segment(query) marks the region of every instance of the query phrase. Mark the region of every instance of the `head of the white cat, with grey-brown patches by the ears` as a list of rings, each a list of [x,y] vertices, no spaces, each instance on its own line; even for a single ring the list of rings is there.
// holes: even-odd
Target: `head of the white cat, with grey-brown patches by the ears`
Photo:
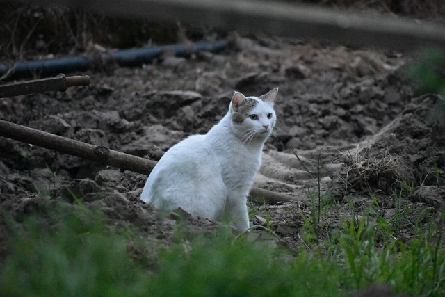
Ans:
[[[276,120],[273,103],[277,93],[278,88],[259,97],[234,93],[229,106],[232,127],[245,143],[257,139],[264,141],[272,133]]]

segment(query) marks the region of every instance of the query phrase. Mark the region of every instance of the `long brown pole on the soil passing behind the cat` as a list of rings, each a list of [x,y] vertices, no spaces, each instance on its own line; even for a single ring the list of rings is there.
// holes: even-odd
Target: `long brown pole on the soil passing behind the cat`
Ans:
[[[157,163],[156,161],[140,158],[139,156],[117,152],[99,145],[90,145],[89,143],[75,141],[74,139],[17,125],[5,120],[0,120],[0,136],[144,175],[149,175]],[[254,202],[266,204],[296,201],[288,195],[256,187],[253,187],[250,191],[249,199]]]

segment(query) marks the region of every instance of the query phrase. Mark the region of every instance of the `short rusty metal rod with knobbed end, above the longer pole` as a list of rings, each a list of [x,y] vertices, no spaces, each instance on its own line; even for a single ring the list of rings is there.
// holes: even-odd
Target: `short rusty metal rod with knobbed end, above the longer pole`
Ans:
[[[0,98],[42,93],[49,90],[64,92],[67,90],[67,87],[89,85],[90,77],[88,75],[65,77],[65,74],[58,74],[56,77],[47,79],[34,79],[32,81],[19,81],[17,83],[0,85]]]

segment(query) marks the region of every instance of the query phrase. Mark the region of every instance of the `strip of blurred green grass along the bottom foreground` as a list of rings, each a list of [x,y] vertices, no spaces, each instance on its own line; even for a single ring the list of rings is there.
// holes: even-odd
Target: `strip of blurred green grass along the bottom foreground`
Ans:
[[[345,296],[380,283],[412,296],[445,294],[439,228],[419,227],[415,239],[401,243],[381,221],[355,216],[291,255],[221,227],[136,262],[127,251],[136,234],[111,231],[102,215],[76,205],[53,211],[11,231],[0,296]]]

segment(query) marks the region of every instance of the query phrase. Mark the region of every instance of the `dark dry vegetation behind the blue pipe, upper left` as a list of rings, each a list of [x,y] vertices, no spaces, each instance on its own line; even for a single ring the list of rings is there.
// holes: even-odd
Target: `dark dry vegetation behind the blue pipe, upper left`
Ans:
[[[0,0],[0,5],[0,56],[3,61],[76,54],[91,51],[95,44],[107,49],[168,44],[177,42],[180,31],[184,31],[182,25],[175,22],[161,24],[124,19],[63,6],[43,8],[11,0]],[[199,40],[203,33],[193,28],[186,30],[186,36]]]

